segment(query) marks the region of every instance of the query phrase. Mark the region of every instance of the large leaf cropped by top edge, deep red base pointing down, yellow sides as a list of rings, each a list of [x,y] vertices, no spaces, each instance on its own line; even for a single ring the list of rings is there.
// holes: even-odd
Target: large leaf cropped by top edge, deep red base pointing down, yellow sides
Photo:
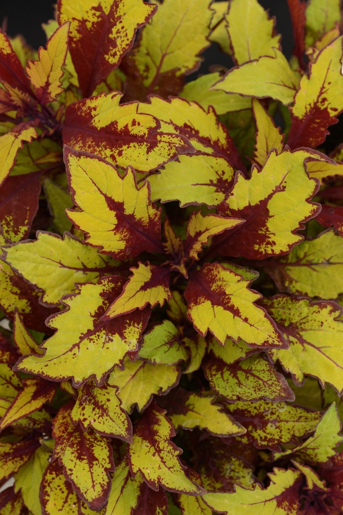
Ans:
[[[116,68],[133,45],[138,28],[156,7],[137,0],[59,0],[58,20],[70,20],[69,48],[84,97]]]

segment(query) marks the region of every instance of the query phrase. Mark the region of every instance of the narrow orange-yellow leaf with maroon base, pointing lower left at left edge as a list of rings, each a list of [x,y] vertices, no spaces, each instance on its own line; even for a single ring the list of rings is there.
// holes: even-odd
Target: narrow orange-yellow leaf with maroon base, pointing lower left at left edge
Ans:
[[[56,393],[56,384],[45,381],[41,377],[23,380],[21,390],[6,410],[0,422],[0,431],[17,420],[40,409],[46,402],[51,402]]]

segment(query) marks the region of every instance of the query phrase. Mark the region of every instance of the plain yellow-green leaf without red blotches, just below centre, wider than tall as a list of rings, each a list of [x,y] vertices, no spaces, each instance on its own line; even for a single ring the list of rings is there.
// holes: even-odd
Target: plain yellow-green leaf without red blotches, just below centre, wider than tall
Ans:
[[[124,361],[124,370],[115,368],[107,383],[119,388],[117,396],[122,408],[131,413],[134,404],[138,411],[143,411],[152,400],[153,394],[166,394],[177,385],[180,370],[175,365],[151,365],[136,359]]]

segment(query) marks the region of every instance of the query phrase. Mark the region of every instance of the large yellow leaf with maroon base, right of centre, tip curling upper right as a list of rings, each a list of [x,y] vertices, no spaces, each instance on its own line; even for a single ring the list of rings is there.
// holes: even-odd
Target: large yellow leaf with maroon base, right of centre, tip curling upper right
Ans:
[[[308,158],[326,159],[311,149],[291,152],[286,147],[279,155],[272,150],[262,170],[254,166],[251,179],[238,173],[219,212],[247,221],[216,236],[214,248],[219,246],[222,255],[264,259],[285,254],[300,243],[303,236],[296,231],[320,209],[309,200],[317,192],[318,183],[305,172]]]

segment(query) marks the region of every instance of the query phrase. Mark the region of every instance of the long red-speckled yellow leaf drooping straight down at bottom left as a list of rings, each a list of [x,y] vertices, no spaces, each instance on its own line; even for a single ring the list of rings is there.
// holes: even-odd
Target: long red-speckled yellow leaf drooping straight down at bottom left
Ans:
[[[114,470],[113,450],[106,437],[91,428],[83,432],[69,418],[70,405],[62,406],[53,419],[56,439],[52,458],[59,458],[65,477],[89,508],[100,511],[109,499]]]

